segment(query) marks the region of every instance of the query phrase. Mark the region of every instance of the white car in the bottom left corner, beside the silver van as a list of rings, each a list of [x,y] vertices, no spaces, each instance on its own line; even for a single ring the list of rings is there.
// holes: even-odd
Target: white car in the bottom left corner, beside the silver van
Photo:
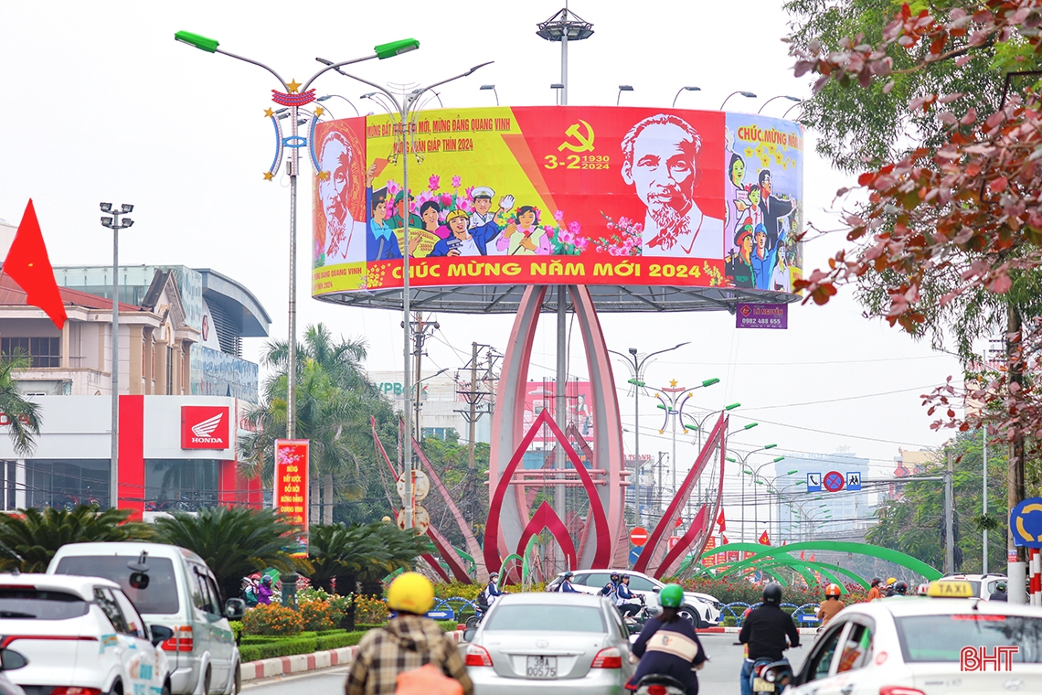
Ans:
[[[26,695],[170,695],[166,654],[119,585],[49,574],[0,576],[0,647],[28,662],[8,677]]]

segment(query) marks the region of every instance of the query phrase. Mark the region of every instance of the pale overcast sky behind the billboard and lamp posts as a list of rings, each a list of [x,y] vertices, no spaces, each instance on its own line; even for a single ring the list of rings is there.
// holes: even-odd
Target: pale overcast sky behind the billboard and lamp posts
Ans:
[[[273,319],[272,336],[286,334],[289,180],[262,174],[272,157],[271,124],[263,117],[268,73],[173,41],[184,29],[218,39],[221,47],[271,65],[298,81],[318,69],[315,56],[334,60],[364,55],[372,46],[413,36],[421,49],[368,63],[357,72],[374,81],[437,81],[486,60],[474,76],[447,85],[447,106],[494,103],[482,83],[495,83],[506,105],[553,104],[560,50],[539,39],[536,23],[562,0],[528,2],[394,3],[15,2],[0,1],[0,218],[17,224],[33,198],[54,265],[111,262],[109,232],[98,224],[98,202],[135,205],[137,224],[125,233],[126,264],[183,264],[213,268],[248,287]],[[624,104],[715,109],[735,90],[733,110],[751,110],[766,98],[805,97],[809,83],[792,76],[782,39],[789,18],[778,1],[729,3],[644,0],[576,1],[573,11],[594,23],[594,35],[570,49],[570,104],[614,104],[617,85],[631,84]],[[337,75],[320,92],[343,95],[366,113],[364,89]],[[328,102],[338,117],[350,108]],[[778,100],[765,114],[780,116]],[[813,151],[804,167],[807,218],[830,226],[828,209],[844,176]],[[306,167],[306,165],[304,165]],[[284,169],[283,169],[284,172]],[[299,325],[323,321],[346,336],[365,336],[372,369],[401,368],[400,316],[379,309],[328,306],[308,293],[311,171],[301,187],[298,269]],[[841,240],[809,244],[808,269],[824,263]],[[457,368],[472,341],[505,349],[512,317],[441,315],[428,365]],[[531,376],[552,373],[553,321],[532,353]],[[601,315],[609,347],[653,351],[690,341],[659,359],[650,383],[677,379],[722,382],[699,392],[705,407],[741,401],[738,424],[759,427],[737,436],[737,449],[776,443],[779,449],[834,452],[847,447],[889,474],[898,447],[936,446],[946,433],[929,429],[918,396],[958,364],[878,321],[861,316],[849,292],[827,307],[794,306],[789,329],[736,330],[726,313],[710,315]],[[255,358],[262,341],[247,342]],[[570,372],[585,377],[579,342]],[[425,372],[426,373],[426,372]],[[617,381],[628,374],[621,365]],[[625,392],[620,391],[624,397]],[[631,429],[631,400],[622,403]],[[668,450],[659,439],[654,401],[642,406],[642,452]],[[647,425],[647,428],[644,427]],[[626,446],[631,445],[627,435]],[[693,447],[689,447],[692,451]]]

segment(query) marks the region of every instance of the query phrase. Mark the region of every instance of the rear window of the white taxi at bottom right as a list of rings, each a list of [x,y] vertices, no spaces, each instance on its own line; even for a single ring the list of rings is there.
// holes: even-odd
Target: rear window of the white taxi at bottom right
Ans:
[[[938,601],[956,599],[933,599]],[[1042,618],[963,613],[895,618],[905,663],[958,662],[963,647],[1016,645],[1013,661],[1042,663]]]

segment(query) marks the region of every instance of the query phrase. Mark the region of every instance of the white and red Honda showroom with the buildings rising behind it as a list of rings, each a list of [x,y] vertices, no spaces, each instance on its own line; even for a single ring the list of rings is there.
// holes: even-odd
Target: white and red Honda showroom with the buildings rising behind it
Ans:
[[[151,272],[147,281],[141,268]],[[73,276],[96,280],[100,272],[60,270],[64,283]],[[267,314],[245,288],[213,271],[132,267],[121,276],[120,299],[129,301],[119,302],[115,342],[110,299],[61,288],[69,320],[57,329],[0,277],[0,356],[27,359],[16,381],[42,417],[25,456],[14,450],[0,416],[3,508],[108,506],[114,343],[120,507],[148,519],[216,504],[259,505],[259,480],[238,471],[245,414],[257,401],[257,366],[240,350],[242,338],[267,334]],[[198,290],[193,302],[183,300],[181,287]]]

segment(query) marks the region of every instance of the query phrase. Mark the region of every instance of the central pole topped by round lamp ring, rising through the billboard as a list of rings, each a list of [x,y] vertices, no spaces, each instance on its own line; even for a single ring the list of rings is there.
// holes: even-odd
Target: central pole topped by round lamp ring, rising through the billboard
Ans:
[[[547,41],[561,42],[561,90],[560,103],[562,106],[568,105],[568,42],[582,41],[593,34],[593,24],[582,20],[578,15],[568,9],[567,3],[556,15],[540,22],[536,25],[539,29],[536,34]],[[556,378],[554,379],[554,415],[553,419],[562,429],[567,425],[568,402],[566,400],[565,384],[568,382],[568,304],[566,297],[567,288],[557,288],[557,364]],[[565,449],[557,446],[553,467],[556,470],[564,470],[567,467],[565,461]],[[560,475],[560,474],[559,474]],[[565,518],[565,488],[562,485],[555,486],[553,493],[553,506],[557,516]]]

